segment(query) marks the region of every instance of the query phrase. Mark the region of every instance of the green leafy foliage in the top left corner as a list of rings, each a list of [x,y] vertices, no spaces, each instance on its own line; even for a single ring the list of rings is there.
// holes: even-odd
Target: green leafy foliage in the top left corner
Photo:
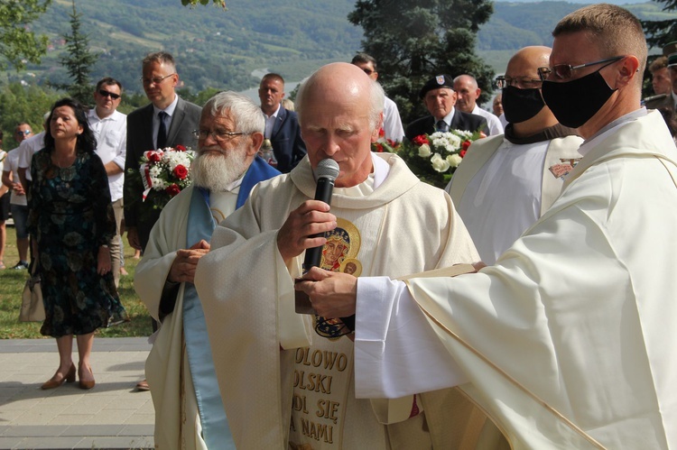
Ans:
[[[29,25],[40,17],[51,0],[4,0],[0,2],[0,55],[17,70],[28,60],[40,62],[47,49],[47,36],[36,36]],[[6,62],[0,62],[5,69]]]

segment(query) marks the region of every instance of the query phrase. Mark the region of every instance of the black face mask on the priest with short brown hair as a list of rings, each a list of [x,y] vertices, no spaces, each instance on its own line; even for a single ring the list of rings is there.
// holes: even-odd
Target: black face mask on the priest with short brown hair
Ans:
[[[607,85],[599,70],[565,83],[543,81],[542,87],[543,99],[552,114],[570,128],[588,122],[616,90]]]

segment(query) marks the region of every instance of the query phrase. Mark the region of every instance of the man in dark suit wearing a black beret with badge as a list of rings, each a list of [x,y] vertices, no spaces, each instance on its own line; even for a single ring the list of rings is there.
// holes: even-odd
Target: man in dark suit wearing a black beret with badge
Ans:
[[[454,78],[438,75],[423,85],[419,96],[431,115],[413,121],[404,135],[410,141],[421,134],[448,132],[450,130],[483,131],[487,135],[487,120],[481,115],[464,113],[454,108],[458,98],[453,89]]]

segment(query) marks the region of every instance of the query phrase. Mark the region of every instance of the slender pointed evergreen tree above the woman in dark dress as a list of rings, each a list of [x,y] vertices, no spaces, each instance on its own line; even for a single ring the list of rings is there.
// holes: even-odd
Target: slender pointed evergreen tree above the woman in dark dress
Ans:
[[[70,85],[59,85],[64,88],[69,95],[84,105],[89,105],[92,101],[92,92],[94,87],[89,84],[89,74],[92,67],[97,62],[98,55],[89,51],[89,37],[80,32],[80,17],[73,1],[73,12],[70,17],[70,34],[64,34],[66,40],[66,50],[68,54],[60,59],[61,65],[68,69],[70,78],[73,82]]]

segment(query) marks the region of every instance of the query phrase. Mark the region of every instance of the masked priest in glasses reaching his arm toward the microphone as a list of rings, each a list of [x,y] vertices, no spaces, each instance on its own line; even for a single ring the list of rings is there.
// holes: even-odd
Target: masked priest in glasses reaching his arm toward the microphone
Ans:
[[[496,265],[408,286],[313,269],[296,286],[323,317],[357,292],[359,398],[459,385],[513,448],[672,448],[677,149],[640,106],[645,34],[607,4],[552,34],[543,98],[583,157]]]

